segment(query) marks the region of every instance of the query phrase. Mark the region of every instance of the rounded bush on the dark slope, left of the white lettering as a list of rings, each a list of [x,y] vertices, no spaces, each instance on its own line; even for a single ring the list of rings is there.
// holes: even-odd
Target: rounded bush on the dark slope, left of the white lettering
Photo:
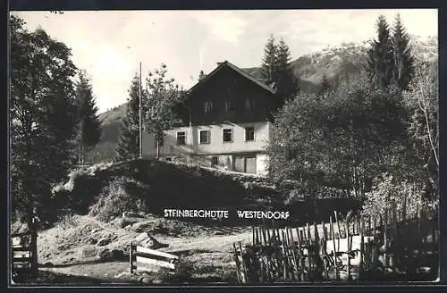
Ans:
[[[140,196],[146,188],[139,181],[127,177],[115,178],[101,190],[97,202],[89,208],[89,215],[106,222],[123,212],[145,212],[147,205]]]

